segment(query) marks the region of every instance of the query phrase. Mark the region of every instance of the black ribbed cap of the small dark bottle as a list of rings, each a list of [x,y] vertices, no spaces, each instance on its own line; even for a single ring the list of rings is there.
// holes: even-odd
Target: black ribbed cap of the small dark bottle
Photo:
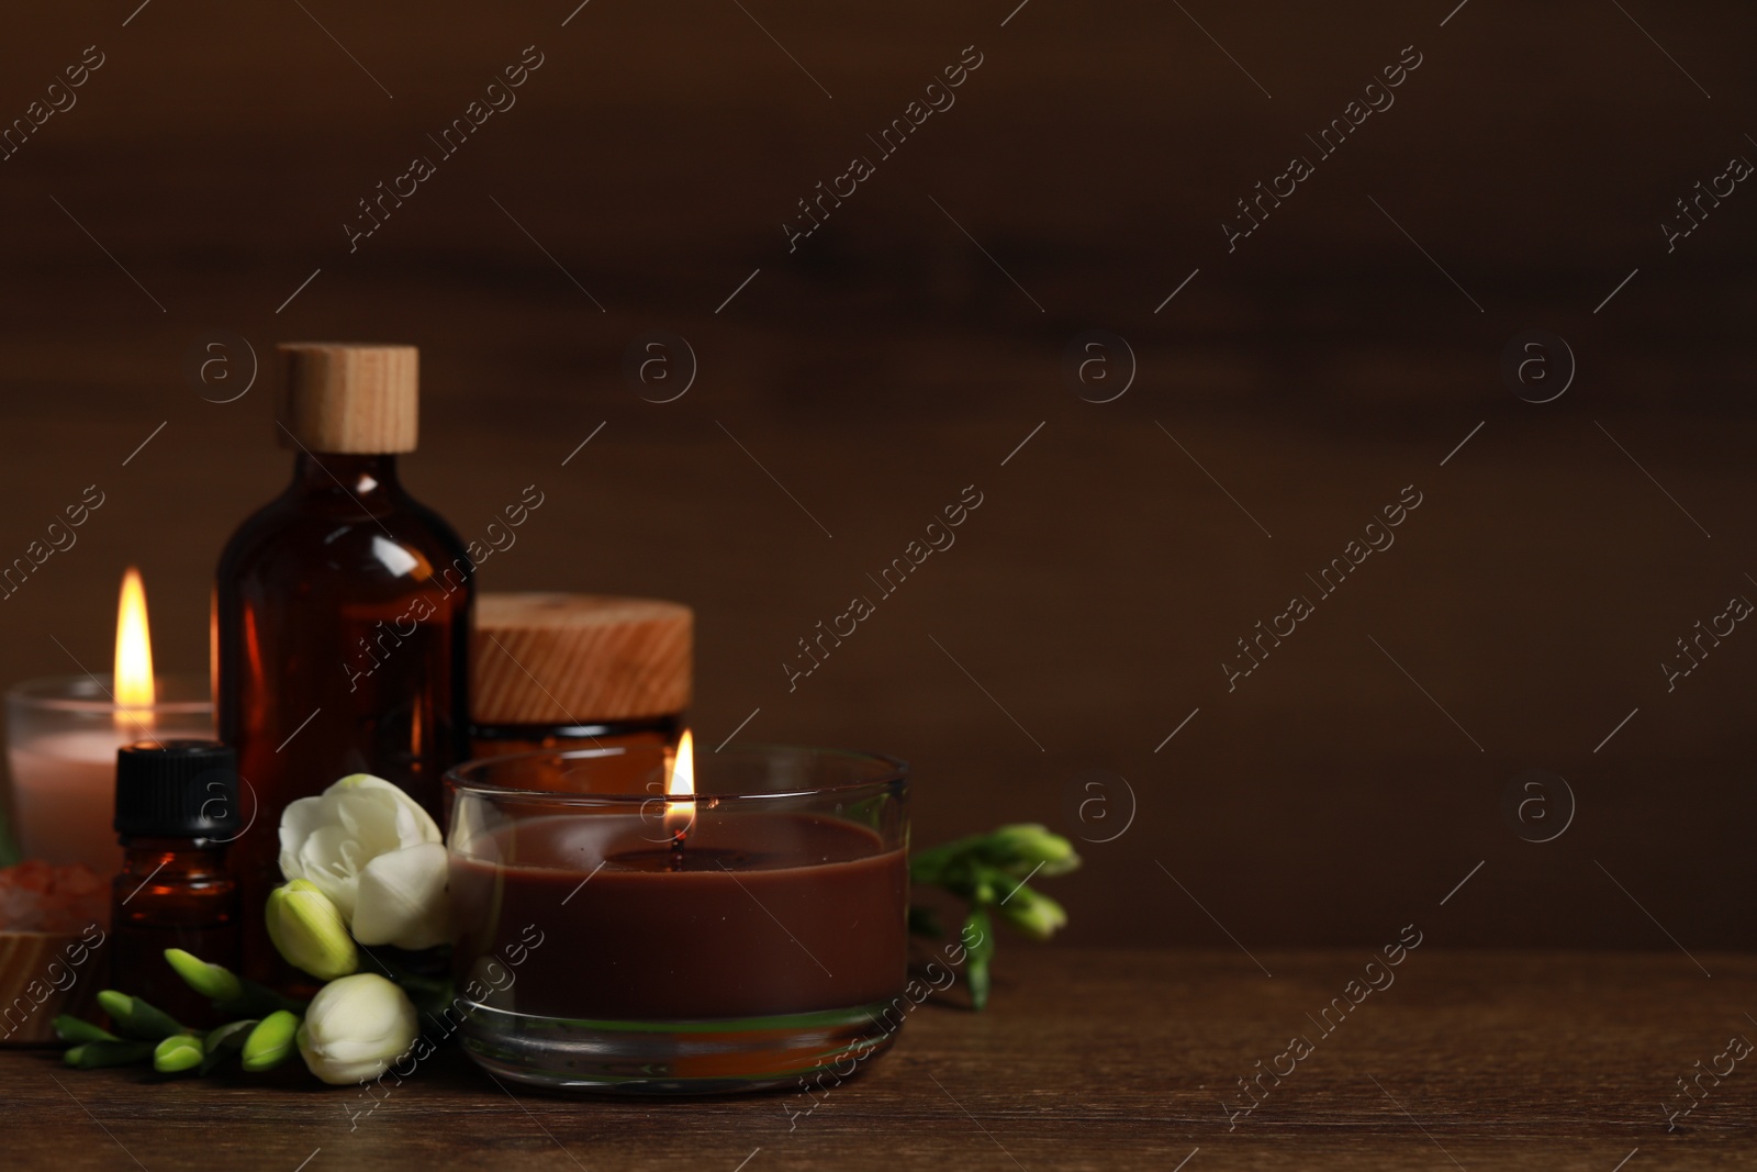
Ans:
[[[220,742],[135,742],[116,750],[116,833],[237,836],[237,754]]]

